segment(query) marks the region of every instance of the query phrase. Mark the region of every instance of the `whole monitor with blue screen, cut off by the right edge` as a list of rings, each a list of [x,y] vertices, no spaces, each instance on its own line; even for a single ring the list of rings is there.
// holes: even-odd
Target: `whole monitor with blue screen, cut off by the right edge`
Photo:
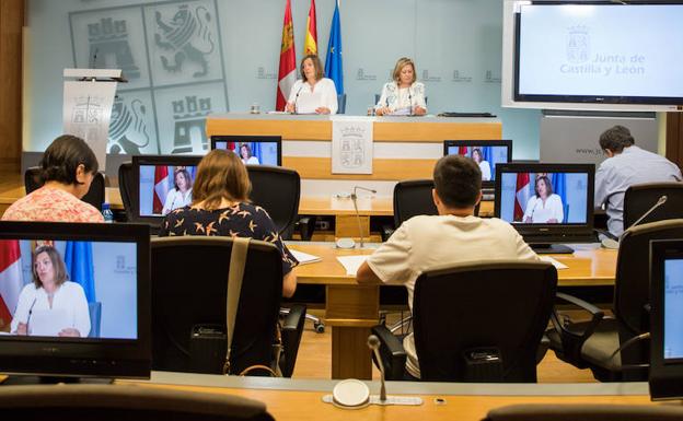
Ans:
[[[683,399],[683,238],[650,243],[650,396]]]

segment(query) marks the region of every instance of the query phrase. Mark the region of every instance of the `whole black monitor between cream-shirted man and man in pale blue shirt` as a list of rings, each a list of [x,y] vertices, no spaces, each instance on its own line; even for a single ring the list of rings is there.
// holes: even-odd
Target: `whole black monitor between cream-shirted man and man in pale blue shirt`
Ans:
[[[496,166],[495,214],[536,253],[571,253],[555,243],[593,242],[592,164]]]

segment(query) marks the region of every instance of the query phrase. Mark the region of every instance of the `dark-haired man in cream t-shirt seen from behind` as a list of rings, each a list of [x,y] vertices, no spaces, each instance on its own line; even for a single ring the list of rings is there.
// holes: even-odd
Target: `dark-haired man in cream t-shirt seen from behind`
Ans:
[[[368,257],[356,273],[359,283],[403,284],[413,308],[415,280],[442,265],[491,260],[539,260],[517,231],[497,218],[474,217],[482,199],[482,172],[470,157],[443,156],[433,171],[432,199],[439,215],[419,215],[404,222]],[[406,372],[419,378],[413,335],[403,346]]]

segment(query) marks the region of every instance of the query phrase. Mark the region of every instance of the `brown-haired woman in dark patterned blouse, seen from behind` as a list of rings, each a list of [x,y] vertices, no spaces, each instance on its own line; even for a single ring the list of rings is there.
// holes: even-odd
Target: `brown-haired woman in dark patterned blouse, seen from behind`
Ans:
[[[268,212],[250,203],[251,189],[240,156],[222,149],[207,153],[197,166],[192,204],[171,211],[159,236],[222,235],[273,243],[282,256],[282,295],[290,297],[297,289],[292,268],[298,261],[282,243]]]

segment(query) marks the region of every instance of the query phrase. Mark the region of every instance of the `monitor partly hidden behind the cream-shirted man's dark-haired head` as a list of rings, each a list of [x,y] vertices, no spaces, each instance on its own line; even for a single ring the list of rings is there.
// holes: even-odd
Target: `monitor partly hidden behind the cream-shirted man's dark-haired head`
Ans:
[[[482,186],[496,185],[496,166],[512,161],[511,140],[445,140],[443,155],[464,155],[477,161],[482,169]]]

